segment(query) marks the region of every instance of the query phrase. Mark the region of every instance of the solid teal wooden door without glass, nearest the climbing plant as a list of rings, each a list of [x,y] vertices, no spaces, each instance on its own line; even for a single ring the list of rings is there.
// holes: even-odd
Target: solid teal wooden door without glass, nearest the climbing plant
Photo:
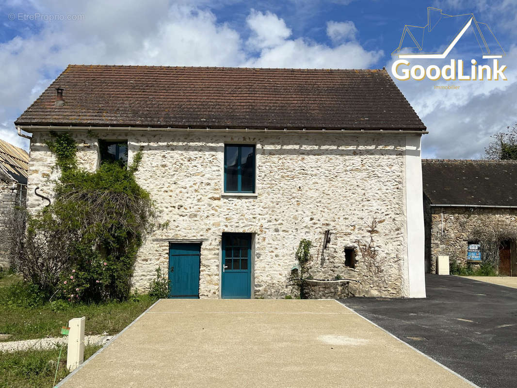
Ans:
[[[199,298],[201,245],[171,243],[169,247],[169,297]]]

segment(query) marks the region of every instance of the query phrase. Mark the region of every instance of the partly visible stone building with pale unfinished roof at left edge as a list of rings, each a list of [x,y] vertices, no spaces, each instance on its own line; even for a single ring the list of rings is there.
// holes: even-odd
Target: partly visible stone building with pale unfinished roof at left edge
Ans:
[[[22,148],[0,140],[0,268],[9,267],[7,241],[9,213],[25,206],[29,155]]]

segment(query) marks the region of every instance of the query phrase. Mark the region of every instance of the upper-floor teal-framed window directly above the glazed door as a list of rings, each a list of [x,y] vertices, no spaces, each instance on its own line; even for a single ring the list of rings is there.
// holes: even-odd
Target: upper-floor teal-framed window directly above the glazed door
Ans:
[[[255,146],[224,146],[224,191],[255,192]]]

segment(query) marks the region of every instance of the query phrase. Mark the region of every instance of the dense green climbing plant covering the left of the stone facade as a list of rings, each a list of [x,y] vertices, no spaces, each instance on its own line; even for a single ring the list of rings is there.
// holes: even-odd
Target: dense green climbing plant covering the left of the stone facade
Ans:
[[[125,300],[136,255],[154,227],[153,202],[134,178],[142,155],[137,153],[127,168],[103,162],[88,172],[77,166],[77,144],[69,133],[51,136],[46,144],[61,175],[52,204],[31,217],[27,229],[34,241],[55,231],[48,247],[62,251],[57,259],[44,252],[61,262],[43,288],[70,301]]]

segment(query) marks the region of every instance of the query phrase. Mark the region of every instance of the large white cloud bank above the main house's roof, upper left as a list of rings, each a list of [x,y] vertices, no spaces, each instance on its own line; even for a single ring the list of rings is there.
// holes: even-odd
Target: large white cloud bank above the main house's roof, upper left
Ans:
[[[9,12],[63,14],[65,20],[42,21],[37,33],[24,21],[8,22],[20,35],[0,43],[0,138],[27,147],[12,123],[68,64],[364,68],[382,56],[357,42],[329,47],[293,39],[271,12],[251,10],[248,31],[238,32],[201,8],[204,2],[7,3]],[[83,17],[69,21],[67,15]]]

